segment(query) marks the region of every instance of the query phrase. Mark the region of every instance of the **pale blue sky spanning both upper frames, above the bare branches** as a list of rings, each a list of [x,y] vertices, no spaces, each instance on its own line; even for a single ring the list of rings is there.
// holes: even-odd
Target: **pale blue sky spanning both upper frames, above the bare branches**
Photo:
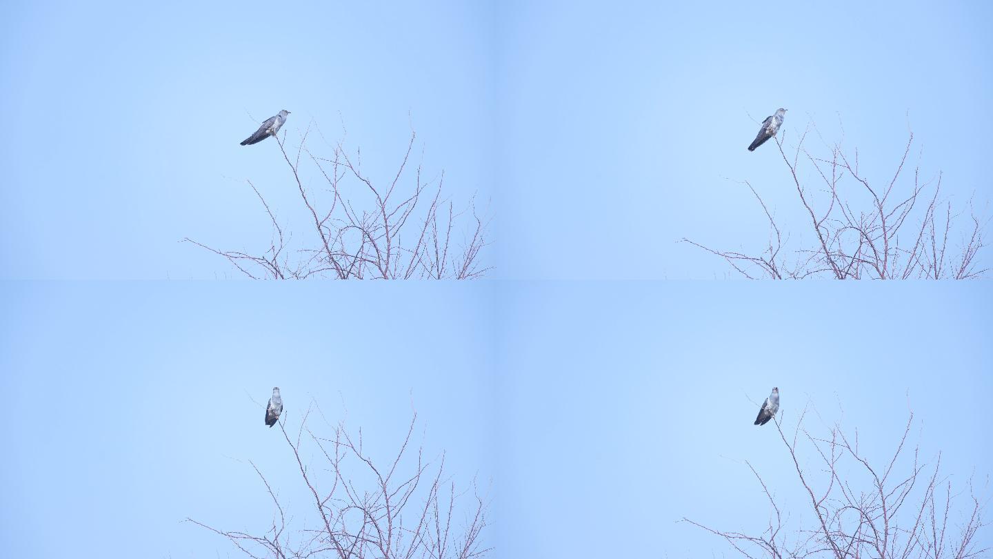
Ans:
[[[873,181],[913,129],[922,177],[943,172],[946,200],[993,216],[988,2],[0,10],[7,278],[236,276],[178,242],[264,249],[270,226],[245,179],[302,238],[277,146],[238,145],[280,108],[291,146],[313,120],[319,153],[345,138],[379,180],[416,128],[428,176],[444,170],[457,202],[477,193],[492,211],[497,278],[733,276],[677,241],[761,248],[768,225],[745,180],[800,241],[806,216],[776,146],[745,149],[779,106],[787,145],[816,123],[807,145],[826,154],[843,135]]]

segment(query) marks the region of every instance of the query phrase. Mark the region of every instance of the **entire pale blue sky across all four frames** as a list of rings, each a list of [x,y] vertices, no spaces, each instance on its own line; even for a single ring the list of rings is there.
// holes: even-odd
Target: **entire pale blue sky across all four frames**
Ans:
[[[14,555],[109,539],[111,556],[236,556],[181,520],[268,520],[248,460],[304,498],[261,426],[273,385],[289,421],[318,401],[383,453],[416,408],[430,455],[493,480],[496,557],[720,556],[676,520],[764,519],[742,512],[761,500],[744,461],[795,498],[769,426],[751,425],[774,385],[787,424],[809,405],[811,429],[841,418],[886,450],[911,408],[923,456],[941,451],[954,481],[993,473],[988,282],[693,283],[679,280],[732,275],[676,243],[765,243],[745,180],[801,227],[775,146],[746,150],[779,106],[787,144],[816,123],[812,147],[843,135],[872,180],[913,129],[922,176],[993,215],[988,3],[7,2],[0,16]],[[176,281],[237,277],[185,237],[267,246],[248,179],[301,223],[278,146],[238,145],[281,108],[291,144],[316,122],[316,149],[344,138],[380,180],[416,129],[427,175],[492,202],[491,280]]]

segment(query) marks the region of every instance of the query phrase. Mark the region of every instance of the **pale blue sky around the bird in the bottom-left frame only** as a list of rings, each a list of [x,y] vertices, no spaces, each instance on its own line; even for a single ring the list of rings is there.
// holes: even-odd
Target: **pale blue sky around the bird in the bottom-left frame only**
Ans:
[[[272,504],[247,461],[312,526],[293,455],[263,423],[273,386],[288,428],[316,402],[379,463],[416,410],[425,459],[446,452],[459,487],[475,477],[492,497],[492,287],[350,285],[5,283],[4,555],[241,556],[182,521],[264,532]]]

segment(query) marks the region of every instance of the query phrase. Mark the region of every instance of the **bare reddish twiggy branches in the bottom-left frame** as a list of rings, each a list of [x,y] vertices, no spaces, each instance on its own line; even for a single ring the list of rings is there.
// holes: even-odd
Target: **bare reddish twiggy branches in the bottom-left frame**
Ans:
[[[379,464],[362,450],[362,432],[344,425],[331,438],[315,434],[304,416],[295,437],[279,422],[298,479],[311,495],[310,512],[287,510],[270,478],[252,463],[272,500],[272,522],[260,534],[219,529],[187,520],[221,535],[248,557],[277,559],[473,559],[485,557],[482,534],[488,504],[473,484],[459,491],[445,472],[445,456],[432,464],[423,449],[412,449],[414,414],[395,457]],[[304,457],[317,456],[319,464]],[[468,501],[468,505],[463,502]],[[296,518],[304,518],[298,526]]]

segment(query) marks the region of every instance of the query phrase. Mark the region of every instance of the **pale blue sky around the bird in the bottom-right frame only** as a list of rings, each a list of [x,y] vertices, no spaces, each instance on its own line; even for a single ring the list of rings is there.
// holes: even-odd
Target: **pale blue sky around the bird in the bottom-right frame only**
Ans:
[[[892,458],[913,410],[922,462],[941,452],[952,483],[974,475],[988,503],[989,285],[801,287],[545,282],[507,295],[500,556],[735,557],[677,521],[762,532],[768,502],[746,460],[809,522],[775,426],[753,425],[774,386],[786,426],[809,405],[812,434],[858,429],[876,461]],[[810,469],[819,460],[801,454]],[[993,545],[988,528],[978,539]]]

